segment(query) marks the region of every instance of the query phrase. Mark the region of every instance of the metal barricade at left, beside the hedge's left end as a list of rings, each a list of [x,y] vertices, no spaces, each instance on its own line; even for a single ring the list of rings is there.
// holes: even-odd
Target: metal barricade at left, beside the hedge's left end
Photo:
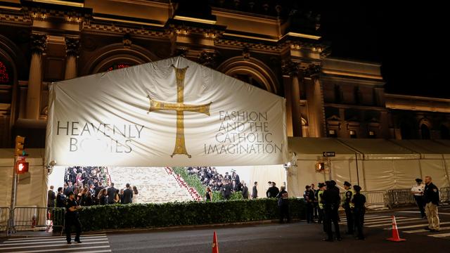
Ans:
[[[60,207],[15,207],[12,231],[35,231],[58,228],[63,231],[65,209]],[[11,229],[11,228],[10,228]]]

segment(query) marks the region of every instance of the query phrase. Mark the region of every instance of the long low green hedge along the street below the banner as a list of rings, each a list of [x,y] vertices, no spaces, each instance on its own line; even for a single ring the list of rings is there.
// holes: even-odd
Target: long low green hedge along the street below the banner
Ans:
[[[303,200],[290,199],[290,216],[304,217]],[[84,231],[157,228],[211,223],[278,219],[277,200],[173,202],[165,204],[101,205],[79,211]]]

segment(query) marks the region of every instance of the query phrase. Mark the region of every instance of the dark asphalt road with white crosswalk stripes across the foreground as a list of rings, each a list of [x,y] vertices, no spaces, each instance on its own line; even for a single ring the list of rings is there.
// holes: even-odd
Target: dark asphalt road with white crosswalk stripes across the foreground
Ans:
[[[390,242],[390,215],[397,217],[401,238]],[[416,209],[369,213],[366,240],[343,235],[340,242],[323,242],[320,224],[304,221],[288,224],[228,226],[203,229],[141,231],[84,235],[82,244],[66,245],[65,238],[13,238],[0,243],[0,252],[211,252],[217,232],[219,252],[450,252],[450,208],[440,209],[441,231],[423,231],[426,220]],[[345,221],[345,219],[342,219]],[[448,223],[447,223],[448,222]],[[345,223],[341,226],[345,232]]]

